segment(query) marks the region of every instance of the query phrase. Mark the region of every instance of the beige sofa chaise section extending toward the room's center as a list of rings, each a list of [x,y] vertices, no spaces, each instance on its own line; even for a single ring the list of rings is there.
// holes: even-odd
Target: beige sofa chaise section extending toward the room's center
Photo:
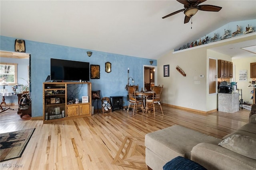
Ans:
[[[180,125],[174,125],[146,134],[145,147],[168,162],[177,156],[190,159],[191,150],[198,143],[218,145],[220,141],[222,140]]]

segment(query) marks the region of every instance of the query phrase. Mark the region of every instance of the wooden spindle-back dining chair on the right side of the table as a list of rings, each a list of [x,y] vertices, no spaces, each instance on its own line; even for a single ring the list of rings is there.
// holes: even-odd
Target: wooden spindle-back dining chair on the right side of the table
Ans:
[[[159,105],[162,111],[162,115],[164,115],[162,106],[161,106],[161,100],[162,100],[162,91],[163,86],[154,86],[154,93],[152,96],[152,99],[146,99],[146,113],[148,109],[152,109],[154,111],[154,116],[156,116],[155,112],[155,105]]]

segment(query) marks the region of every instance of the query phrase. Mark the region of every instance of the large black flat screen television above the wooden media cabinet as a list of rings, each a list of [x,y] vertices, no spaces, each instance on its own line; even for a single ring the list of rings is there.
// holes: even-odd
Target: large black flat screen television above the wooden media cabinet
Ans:
[[[89,81],[90,63],[51,59],[50,79],[54,81]]]

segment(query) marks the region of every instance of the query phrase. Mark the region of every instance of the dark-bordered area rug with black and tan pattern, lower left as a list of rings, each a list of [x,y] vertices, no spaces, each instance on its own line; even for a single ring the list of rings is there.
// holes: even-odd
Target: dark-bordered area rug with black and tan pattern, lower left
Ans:
[[[19,158],[24,152],[34,129],[0,134],[0,162]]]

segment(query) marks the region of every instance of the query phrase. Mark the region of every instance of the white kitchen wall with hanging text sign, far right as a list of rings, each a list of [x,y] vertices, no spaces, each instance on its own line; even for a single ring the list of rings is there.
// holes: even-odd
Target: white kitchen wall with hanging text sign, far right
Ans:
[[[237,88],[242,89],[242,98],[246,102],[251,102],[252,88],[248,88],[249,81],[252,81],[250,78],[250,63],[256,63],[256,55],[255,57],[250,58],[241,58],[241,59],[232,59],[233,65],[235,66],[235,82],[237,82]],[[239,70],[247,70],[247,81],[239,81]],[[241,96],[240,96],[241,98]]]

